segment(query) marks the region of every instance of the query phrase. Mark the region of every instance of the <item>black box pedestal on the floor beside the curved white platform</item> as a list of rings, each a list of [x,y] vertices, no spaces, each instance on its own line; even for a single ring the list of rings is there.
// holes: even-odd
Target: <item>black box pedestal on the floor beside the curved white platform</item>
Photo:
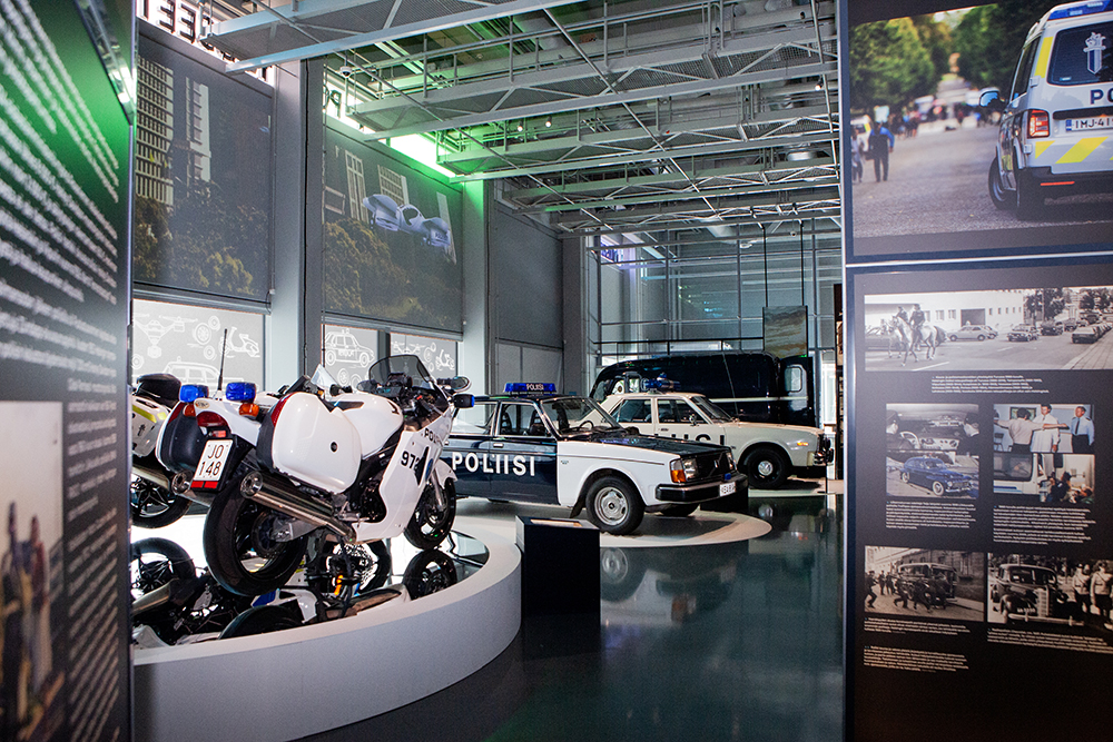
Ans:
[[[599,615],[599,531],[581,521],[518,518],[522,617]]]

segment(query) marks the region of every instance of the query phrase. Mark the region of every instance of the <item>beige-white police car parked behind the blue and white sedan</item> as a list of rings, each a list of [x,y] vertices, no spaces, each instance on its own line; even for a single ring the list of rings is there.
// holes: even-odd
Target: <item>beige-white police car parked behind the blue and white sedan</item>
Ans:
[[[794,473],[823,476],[823,467],[830,462],[830,441],[819,428],[743,423],[702,394],[617,394],[602,406],[619,423],[646,435],[730,446],[751,487],[776,489]]]

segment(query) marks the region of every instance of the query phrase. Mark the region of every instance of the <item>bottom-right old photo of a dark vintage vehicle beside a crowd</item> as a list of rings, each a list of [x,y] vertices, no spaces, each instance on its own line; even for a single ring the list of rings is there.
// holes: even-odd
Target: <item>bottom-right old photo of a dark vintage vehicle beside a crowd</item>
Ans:
[[[1113,632],[1113,558],[991,554],[987,582],[989,623]]]

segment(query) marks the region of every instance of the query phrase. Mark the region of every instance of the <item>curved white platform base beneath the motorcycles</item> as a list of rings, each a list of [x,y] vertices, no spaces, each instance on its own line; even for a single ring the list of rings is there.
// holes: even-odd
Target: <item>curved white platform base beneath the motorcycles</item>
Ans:
[[[498,656],[521,625],[513,540],[463,582],[417,601],[273,634],[135,651],[139,742],[294,740],[397,709]]]

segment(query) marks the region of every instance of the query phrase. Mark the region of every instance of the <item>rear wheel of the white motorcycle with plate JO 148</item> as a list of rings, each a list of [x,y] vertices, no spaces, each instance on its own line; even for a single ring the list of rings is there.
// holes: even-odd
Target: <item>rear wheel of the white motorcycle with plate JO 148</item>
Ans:
[[[205,518],[203,544],[213,576],[237,595],[262,595],[278,590],[302,564],[305,536],[288,542],[272,538],[277,513],[239,492],[234,476],[217,494]]]

